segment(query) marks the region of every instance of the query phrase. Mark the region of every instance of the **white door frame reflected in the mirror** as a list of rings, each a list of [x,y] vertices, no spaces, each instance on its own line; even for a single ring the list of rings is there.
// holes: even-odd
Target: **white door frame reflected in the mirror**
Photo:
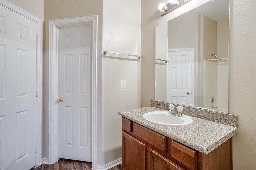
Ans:
[[[194,48],[178,48],[168,49],[168,52],[172,51],[190,51],[191,53],[191,103],[194,104],[195,97],[195,49]]]

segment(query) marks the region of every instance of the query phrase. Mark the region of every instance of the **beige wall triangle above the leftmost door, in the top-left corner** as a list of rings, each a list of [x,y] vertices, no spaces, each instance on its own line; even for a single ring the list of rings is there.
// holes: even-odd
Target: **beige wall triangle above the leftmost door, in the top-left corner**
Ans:
[[[9,2],[44,21],[44,0],[9,0]]]

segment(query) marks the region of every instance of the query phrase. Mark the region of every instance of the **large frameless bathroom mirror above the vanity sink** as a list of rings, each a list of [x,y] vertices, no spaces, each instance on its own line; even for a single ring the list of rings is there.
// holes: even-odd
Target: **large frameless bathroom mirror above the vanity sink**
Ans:
[[[229,0],[156,27],[155,100],[228,113]]]

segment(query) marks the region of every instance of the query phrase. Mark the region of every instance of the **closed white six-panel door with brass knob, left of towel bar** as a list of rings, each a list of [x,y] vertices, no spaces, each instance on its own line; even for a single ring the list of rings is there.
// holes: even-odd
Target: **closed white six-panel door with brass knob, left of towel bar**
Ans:
[[[91,25],[59,28],[58,155],[92,161],[90,110]]]

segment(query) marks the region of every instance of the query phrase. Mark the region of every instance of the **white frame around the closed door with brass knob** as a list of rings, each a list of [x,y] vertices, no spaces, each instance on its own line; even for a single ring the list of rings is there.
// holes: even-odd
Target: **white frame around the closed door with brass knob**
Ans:
[[[92,25],[92,168],[96,160],[96,58],[97,58],[97,26],[98,16],[84,16],[50,20],[49,32],[49,107],[48,163],[58,160],[58,32],[60,27],[75,25]]]

